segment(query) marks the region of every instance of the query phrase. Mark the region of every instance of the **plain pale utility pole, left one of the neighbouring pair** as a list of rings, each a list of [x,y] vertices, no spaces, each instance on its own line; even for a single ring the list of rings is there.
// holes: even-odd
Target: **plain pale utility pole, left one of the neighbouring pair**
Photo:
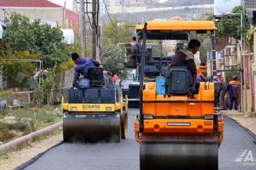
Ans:
[[[85,1],[80,0],[80,41],[82,47],[82,58],[86,57],[85,51]]]

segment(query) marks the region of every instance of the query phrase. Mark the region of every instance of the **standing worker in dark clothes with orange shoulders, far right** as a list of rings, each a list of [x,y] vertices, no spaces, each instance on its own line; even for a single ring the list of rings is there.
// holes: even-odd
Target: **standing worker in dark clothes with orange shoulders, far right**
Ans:
[[[235,103],[235,110],[238,107],[238,98],[239,98],[239,86],[240,82],[237,81],[237,76],[235,75],[232,78],[232,81],[229,81],[227,90],[229,91],[229,110],[232,110],[233,104]]]

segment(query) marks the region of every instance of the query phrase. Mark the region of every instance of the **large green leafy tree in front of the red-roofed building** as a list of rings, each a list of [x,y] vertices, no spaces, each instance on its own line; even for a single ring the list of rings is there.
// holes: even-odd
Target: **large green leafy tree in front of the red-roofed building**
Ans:
[[[68,47],[61,42],[63,33],[59,28],[41,25],[40,19],[30,22],[26,16],[16,13],[10,19],[12,22],[4,32],[4,39],[11,52],[28,50],[41,53],[44,67],[53,67],[68,60]]]

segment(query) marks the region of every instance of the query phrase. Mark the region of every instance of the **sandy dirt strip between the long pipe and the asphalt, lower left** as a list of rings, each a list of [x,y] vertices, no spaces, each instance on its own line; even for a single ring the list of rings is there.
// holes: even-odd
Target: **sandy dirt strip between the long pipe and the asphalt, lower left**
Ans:
[[[62,134],[55,135],[53,137],[49,137],[43,141],[37,141],[35,143],[30,144],[30,146],[26,149],[22,149],[21,151],[15,151],[10,153],[6,159],[0,160],[0,169],[1,170],[10,170],[14,169],[17,166],[22,165],[26,161],[29,161],[31,158],[34,158],[36,155],[41,152],[46,151],[51,148],[55,144],[59,143],[63,140]]]

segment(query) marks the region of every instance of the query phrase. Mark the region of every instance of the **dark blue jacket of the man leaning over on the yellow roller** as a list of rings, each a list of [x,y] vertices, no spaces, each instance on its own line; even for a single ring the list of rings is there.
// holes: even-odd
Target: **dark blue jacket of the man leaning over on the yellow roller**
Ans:
[[[76,65],[74,66],[74,81],[73,87],[76,86],[76,82],[80,77],[80,74],[87,78],[89,68],[99,67],[99,62],[92,58],[77,58]]]

